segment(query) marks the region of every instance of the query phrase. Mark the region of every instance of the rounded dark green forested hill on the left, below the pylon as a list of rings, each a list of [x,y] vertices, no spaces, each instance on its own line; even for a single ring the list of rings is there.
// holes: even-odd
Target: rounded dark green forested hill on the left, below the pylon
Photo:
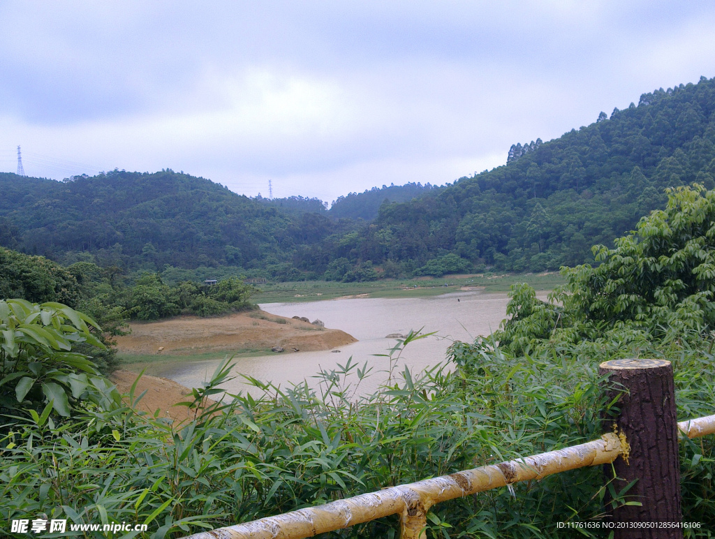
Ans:
[[[71,181],[0,174],[0,244],[61,262],[161,270],[233,265],[300,278],[290,256],[342,224],[291,215],[207,179],[171,170]]]

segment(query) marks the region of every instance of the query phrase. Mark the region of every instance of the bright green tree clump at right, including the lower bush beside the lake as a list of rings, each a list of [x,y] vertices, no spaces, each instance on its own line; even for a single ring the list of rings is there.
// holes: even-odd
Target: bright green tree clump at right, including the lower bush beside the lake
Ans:
[[[536,298],[514,287],[511,319],[495,333],[514,352],[552,340],[580,342],[617,331],[627,342],[701,337],[715,328],[715,190],[668,189],[665,209],[638,222],[616,247],[593,247],[596,262],[563,268],[566,285]]]

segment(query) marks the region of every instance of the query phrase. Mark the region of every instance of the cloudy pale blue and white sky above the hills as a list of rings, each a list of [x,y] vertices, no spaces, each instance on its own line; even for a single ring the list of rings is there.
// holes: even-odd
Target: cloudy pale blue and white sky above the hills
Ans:
[[[0,0],[0,172],[444,184],[715,76],[711,1]],[[0,194],[1,196],[1,194]]]

